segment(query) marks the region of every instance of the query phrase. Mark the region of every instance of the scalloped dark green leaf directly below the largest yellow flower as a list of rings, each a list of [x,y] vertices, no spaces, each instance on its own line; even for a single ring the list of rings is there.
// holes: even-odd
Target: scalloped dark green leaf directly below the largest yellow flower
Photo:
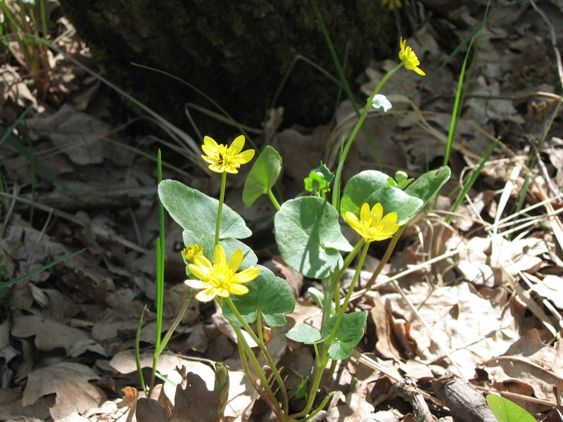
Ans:
[[[295,298],[291,287],[287,281],[275,276],[266,267],[258,265],[258,268],[260,268],[258,277],[244,284],[248,287],[248,293],[231,295],[234,306],[248,324],[256,320],[257,312],[260,310],[268,326],[284,326],[287,323],[285,316],[295,309]],[[228,305],[223,305],[223,314],[232,324],[241,326]]]

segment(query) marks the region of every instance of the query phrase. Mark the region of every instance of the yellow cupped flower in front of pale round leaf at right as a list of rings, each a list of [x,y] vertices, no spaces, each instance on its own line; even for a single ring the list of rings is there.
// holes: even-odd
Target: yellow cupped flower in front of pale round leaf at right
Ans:
[[[389,212],[383,217],[383,205],[377,203],[372,210],[369,210],[369,204],[364,203],[360,209],[360,219],[353,212],[346,212],[344,216],[350,227],[365,238],[367,243],[373,241],[383,241],[390,238],[399,229],[397,222],[397,213]]]

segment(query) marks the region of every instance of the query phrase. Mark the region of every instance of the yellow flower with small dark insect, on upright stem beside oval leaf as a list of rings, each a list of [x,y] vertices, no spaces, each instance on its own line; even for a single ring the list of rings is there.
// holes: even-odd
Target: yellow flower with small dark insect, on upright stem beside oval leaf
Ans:
[[[243,146],[243,135],[237,136],[230,146],[219,145],[209,136],[204,136],[201,149],[205,155],[201,155],[201,158],[209,163],[209,170],[213,172],[238,173],[241,164],[246,164],[254,157],[253,149],[241,153]]]

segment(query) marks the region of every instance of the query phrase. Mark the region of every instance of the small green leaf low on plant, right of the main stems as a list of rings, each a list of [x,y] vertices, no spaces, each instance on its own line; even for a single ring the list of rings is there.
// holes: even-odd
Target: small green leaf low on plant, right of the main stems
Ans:
[[[324,332],[329,335],[338,315],[334,315],[327,322]],[[352,356],[354,347],[360,343],[364,336],[364,326],[367,319],[367,312],[350,312],[344,314],[340,321],[339,328],[336,329],[336,337],[329,345],[329,355],[332,359],[348,359]]]

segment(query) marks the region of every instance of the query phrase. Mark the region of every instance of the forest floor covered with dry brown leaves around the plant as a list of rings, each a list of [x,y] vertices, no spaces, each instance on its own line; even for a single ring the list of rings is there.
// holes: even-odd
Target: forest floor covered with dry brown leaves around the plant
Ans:
[[[0,126],[8,134],[0,147],[0,281],[85,250],[1,291],[0,420],[168,420],[170,414],[135,415],[143,393],[134,343],[145,306],[145,371],[152,364],[156,330],[155,151],[163,148],[164,179],[217,198],[220,177],[205,171],[203,163],[190,162],[182,155],[186,146],[166,138],[163,130],[129,134],[136,120],[115,117],[125,115],[115,113],[125,106],[116,106],[115,92],[85,70],[95,69],[87,47],[58,6],[46,4],[52,16],[49,39],[58,46],[44,52],[49,78],[33,80],[14,43],[0,65]],[[452,177],[433,206],[410,222],[377,283],[350,305],[367,311],[365,335],[353,357],[336,365],[324,392],[338,393],[314,420],[480,421],[487,415],[484,396],[500,393],[538,420],[561,420],[563,67],[557,51],[563,8],[556,4],[544,1],[536,9],[532,0],[507,2],[484,27],[448,162]],[[437,40],[445,33],[466,39],[483,17],[485,7],[477,9],[479,15],[462,7],[443,17],[418,9],[423,12],[417,31],[407,38],[426,79],[401,69],[384,86],[393,109],[374,110],[365,123],[384,158],[382,171],[416,177],[441,165],[467,47],[431,77],[451,53]],[[367,98],[397,63],[396,57],[372,63],[358,75],[358,94]],[[334,127],[327,122],[279,129],[283,111],[274,112],[262,147],[271,144],[281,153],[284,174],[278,186],[292,198],[303,192],[303,178],[319,165],[320,151],[323,162],[336,167],[339,141],[350,134],[356,117],[343,101]],[[233,129],[232,139],[237,135]],[[447,221],[464,177],[495,139],[500,139],[497,148]],[[345,174],[367,169],[379,167],[360,134]],[[268,333],[277,340],[272,354],[294,393],[309,375],[314,355],[312,347],[300,347],[284,333],[299,322],[318,323],[320,307],[308,289],[320,283],[304,279],[278,256],[267,198],[243,206],[246,172],[229,177],[225,201],[252,222],[248,243],[259,263],[286,279],[296,296],[290,324]],[[167,217],[165,231],[167,329],[188,287],[182,282],[182,228]],[[370,249],[364,286],[384,250]],[[344,286],[346,276],[351,277],[345,275]],[[213,390],[214,362],[229,369],[224,420],[272,420],[241,371],[233,332],[220,309],[192,302],[158,371],[179,382],[177,368],[184,366]],[[405,387],[405,380],[412,383]],[[187,400],[201,409],[205,388],[198,388]],[[174,385],[163,383],[160,402],[167,411],[174,397]],[[413,404],[415,399],[427,407]],[[299,409],[303,399],[291,405]]]

